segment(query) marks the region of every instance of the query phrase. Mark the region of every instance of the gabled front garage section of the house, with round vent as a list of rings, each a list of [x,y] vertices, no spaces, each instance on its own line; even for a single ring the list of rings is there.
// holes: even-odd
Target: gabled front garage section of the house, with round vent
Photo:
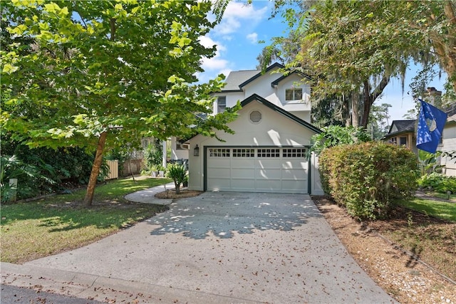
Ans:
[[[242,102],[234,134],[190,140],[189,189],[212,192],[323,194],[309,158],[317,127],[258,95]]]

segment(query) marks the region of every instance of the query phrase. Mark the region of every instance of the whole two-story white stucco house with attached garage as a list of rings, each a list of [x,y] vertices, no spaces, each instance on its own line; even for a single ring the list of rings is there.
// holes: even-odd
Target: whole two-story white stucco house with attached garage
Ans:
[[[311,88],[301,83],[303,75],[283,75],[280,68],[274,63],[266,73],[228,75],[214,94],[214,114],[238,100],[242,109],[229,123],[234,135],[217,132],[224,142],[196,135],[182,145],[172,143],[173,155],[189,159],[189,189],[323,194],[318,159],[307,155],[311,137],[321,132],[310,123]]]

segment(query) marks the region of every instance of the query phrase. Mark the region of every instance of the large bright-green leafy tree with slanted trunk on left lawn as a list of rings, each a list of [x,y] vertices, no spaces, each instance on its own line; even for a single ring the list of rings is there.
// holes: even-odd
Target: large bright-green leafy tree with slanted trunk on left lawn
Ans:
[[[189,84],[201,58],[214,56],[199,43],[214,26],[210,9],[209,1],[2,2],[12,37],[1,51],[4,130],[30,147],[95,151],[86,205],[109,147],[230,132],[232,111],[205,122],[196,115],[210,112],[219,81]]]

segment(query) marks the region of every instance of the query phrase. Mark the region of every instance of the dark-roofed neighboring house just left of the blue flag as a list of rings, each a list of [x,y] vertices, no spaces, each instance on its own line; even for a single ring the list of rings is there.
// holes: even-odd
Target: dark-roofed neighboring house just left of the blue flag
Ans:
[[[415,153],[416,148],[416,121],[417,120],[393,120],[388,134],[383,137],[385,142],[393,145],[408,147]]]

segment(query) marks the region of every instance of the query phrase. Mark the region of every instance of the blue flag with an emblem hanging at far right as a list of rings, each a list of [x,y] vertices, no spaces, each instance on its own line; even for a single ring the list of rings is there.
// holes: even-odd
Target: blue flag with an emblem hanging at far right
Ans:
[[[421,110],[418,116],[416,147],[420,150],[435,153],[448,115],[423,100],[420,100],[420,102]]]

